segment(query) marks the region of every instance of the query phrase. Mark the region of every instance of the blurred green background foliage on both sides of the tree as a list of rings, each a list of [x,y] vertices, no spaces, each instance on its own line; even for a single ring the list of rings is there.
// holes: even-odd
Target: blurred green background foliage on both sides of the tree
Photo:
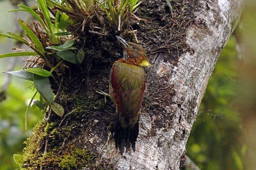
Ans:
[[[201,170],[256,170],[254,1],[247,1],[239,25],[218,59],[186,145],[187,155]],[[3,33],[17,32],[17,16],[6,13],[14,8],[10,2],[0,0],[0,32]],[[11,51],[12,47],[13,41],[0,39],[0,54]],[[1,59],[0,71],[5,71],[9,62],[9,59]],[[18,61],[15,70],[23,65],[24,62]],[[0,74],[0,87],[4,76]],[[28,88],[30,84],[12,77],[6,99],[0,102],[0,170],[18,168],[12,157],[15,153],[22,154],[27,137],[24,114],[33,95]],[[29,134],[42,117],[38,109],[29,112]]]

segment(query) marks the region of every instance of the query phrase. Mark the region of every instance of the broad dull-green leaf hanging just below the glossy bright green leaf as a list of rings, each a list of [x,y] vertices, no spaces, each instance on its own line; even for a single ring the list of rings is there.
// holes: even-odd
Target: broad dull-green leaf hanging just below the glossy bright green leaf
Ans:
[[[35,88],[39,94],[44,98],[44,100],[51,104],[53,102],[53,94],[51,89],[51,84],[48,77],[39,76],[33,74]]]

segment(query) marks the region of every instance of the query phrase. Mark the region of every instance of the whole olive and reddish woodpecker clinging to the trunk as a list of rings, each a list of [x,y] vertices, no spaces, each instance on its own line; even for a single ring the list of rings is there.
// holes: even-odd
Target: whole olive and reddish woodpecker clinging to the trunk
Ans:
[[[109,94],[116,105],[115,142],[121,154],[131,143],[135,151],[135,142],[139,133],[140,107],[145,91],[145,72],[143,66],[150,65],[145,50],[138,44],[118,40],[124,45],[124,57],[117,60],[111,69]]]

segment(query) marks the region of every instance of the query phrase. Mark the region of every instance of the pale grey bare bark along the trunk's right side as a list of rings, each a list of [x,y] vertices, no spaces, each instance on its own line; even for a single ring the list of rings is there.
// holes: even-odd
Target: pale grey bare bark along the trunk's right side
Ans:
[[[165,61],[164,54],[160,54],[147,74],[148,84],[161,87],[152,89],[148,85],[147,91],[159,90],[167,96],[157,100],[163,112],[149,116],[142,110],[136,152],[121,156],[112,140],[98,147],[101,160],[111,162],[117,170],[179,169],[208,79],[236,28],[243,0],[200,0],[198,3],[197,17],[186,33],[186,43],[192,50],[180,55],[176,65]],[[146,93],[147,96],[150,94]],[[166,122],[167,126],[158,125],[156,120]],[[154,134],[149,134],[152,128]]]

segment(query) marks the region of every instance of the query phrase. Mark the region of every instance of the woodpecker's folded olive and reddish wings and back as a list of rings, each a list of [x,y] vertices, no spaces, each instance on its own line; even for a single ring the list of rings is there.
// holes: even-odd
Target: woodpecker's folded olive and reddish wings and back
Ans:
[[[110,83],[113,88],[112,97],[118,111],[131,124],[138,119],[145,91],[143,68],[116,62],[111,70]]]

